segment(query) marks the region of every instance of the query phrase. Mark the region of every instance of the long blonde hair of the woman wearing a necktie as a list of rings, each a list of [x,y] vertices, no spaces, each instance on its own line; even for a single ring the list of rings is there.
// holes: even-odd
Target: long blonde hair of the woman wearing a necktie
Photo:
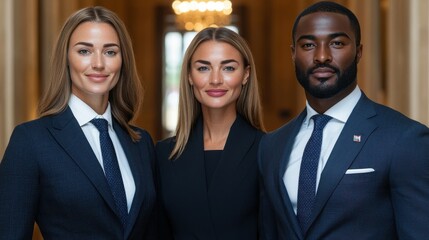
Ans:
[[[47,89],[39,103],[41,117],[55,115],[64,111],[71,94],[71,79],[68,69],[68,46],[72,33],[84,22],[103,22],[110,24],[119,37],[122,66],[116,86],[109,93],[112,115],[128,132],[133,141],[140,139],[130,122],[139,111],[143,88],[137,73],[131,38],[125,24],[112,11],[96,6],[83,8],[71,15],[64,23],[56,41],[51,57],[51,72]]]

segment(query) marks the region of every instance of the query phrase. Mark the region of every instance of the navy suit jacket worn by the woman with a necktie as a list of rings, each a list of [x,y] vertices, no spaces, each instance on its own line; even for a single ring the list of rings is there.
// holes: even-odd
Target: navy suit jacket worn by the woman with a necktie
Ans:
[[[136,192],[125,231],[115,202],[71,110],[17,126],[0,164],[0,239],[31,239],[34,222],[47,239],[144,239],[154,231],[154,146],[114,121]]]

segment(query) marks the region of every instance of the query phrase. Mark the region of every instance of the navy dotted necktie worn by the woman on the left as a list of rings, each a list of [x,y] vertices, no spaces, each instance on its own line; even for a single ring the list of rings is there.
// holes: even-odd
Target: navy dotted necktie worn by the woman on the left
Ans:
[[[125,227],[128,218],[127,198],[125,196],[124,183],[119,169],[115,148],[109,136],[108,122],[106,119],[94,118],[91,123],[100,132],[100,147],[103,157],[104,174],[112,191],[113,199],[121,216],[121,222]]]

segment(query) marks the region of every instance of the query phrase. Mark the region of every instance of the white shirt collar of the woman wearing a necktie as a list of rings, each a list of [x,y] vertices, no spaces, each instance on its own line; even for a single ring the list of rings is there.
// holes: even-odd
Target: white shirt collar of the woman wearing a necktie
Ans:
[[[94,118],[104,118],[107,120],[110,126],[112,126],[112,112],[110,108],[110,102],[107,104],[106,111],[99,115],[95,112],[88,104],[78,98],[76,95],[71,94],[69,103],[71,111],[76,118],[79,126],[83,127]]]

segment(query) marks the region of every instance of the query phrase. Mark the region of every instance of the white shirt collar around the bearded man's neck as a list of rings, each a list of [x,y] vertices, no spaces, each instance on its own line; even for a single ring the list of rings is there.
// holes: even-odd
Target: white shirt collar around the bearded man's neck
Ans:
[[[324,114],[329,115],[342,123],[345,123],[350,114],[352,114],[352,111],[359,101],[361,95],[362,92],[360,88],[356,86],[356,88],[349,95],[329,108]],[[318,113],[310,106],[310,104],[308,104],[308,101],[306,102],[306,107],[307,116],[305,117],[304,125],[308,126],[310,123],[310,118]]]

